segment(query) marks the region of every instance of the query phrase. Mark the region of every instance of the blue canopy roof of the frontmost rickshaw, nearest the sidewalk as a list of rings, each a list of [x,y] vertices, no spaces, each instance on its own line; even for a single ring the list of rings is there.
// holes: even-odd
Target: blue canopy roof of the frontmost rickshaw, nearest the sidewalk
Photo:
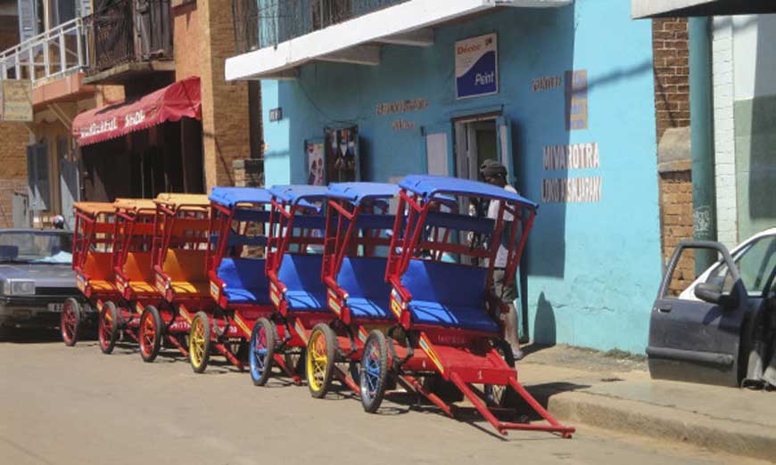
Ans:
[[[469,195],[472,197],[518,202],[532,208],[539,207],[538,204],[524,199],[524,197],[515,192],[509,192],[493,184],[485,184],[458,177],[408,175],[400,181],[399,186],[421,195],[424,200],[443,200],[443,194]]]

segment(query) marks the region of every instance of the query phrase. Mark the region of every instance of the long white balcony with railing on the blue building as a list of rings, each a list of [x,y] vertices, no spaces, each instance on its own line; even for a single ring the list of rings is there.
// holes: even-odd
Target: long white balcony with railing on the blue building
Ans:
[[[433,45],[434,28],[508,7],[574,0],[232,0],[237,56],[227,80],[293,79],[301,65],[377,66],[381,46]]]

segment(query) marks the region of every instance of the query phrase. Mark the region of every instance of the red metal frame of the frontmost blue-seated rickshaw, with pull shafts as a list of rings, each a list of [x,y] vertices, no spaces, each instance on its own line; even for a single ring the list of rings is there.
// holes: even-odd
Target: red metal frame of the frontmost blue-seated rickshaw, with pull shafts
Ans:
[[[447,208],[450,208],[449,206]],[[461,408],[453,404],[446,404],[438,396],[426,391],[413,373],[434,371],[443,379],[453,383],[461,393],[466,396],[477,412],[488,420],[499,433],[506,435],[509,429],[528,429],[550,431],[570,437],[574,428],[565,427],[557,422],[539,404],[517,380],[517,372],[499,354],[497,346],[508,347],[503,343],[503,322],[499,314],[493,314],[499,322],[499,340],[494,340],[492,334],[481,333],[473,330],[458,330],[439,326],[422,325],[412,322],[409,302],[412,295],[401,284],[401,276],[405,273],[411,259],[420,258],[426,252],[433,261],[441,261],[444,252],[460,254],[471,259],[487,259],[488,271],[486,273],[485,286],[488,295],[488,303],[500,313],[508,312],[508,306],[500,302],[492,293],[493,272],[495,257],[501,243],[501,234],[505,228],[505,213],[513,216],[513,224],[522,225],[520,237],[517,236],[518,227],[512,227],[508,238],[508,260],[505,269],[506,279],[514,280],[516,266],[522,256],[525,241],[528,237],[536,215],[532,206],[522,205],[517,202],[499,201],[499,215],[496,219],[494,230],[491,234],[491,247],[489,249],[474,249],[471,246],[458,244],[451,241],[450,230],[440,231],[440,227],[433,226],[430,238],[424,237],[426,230],[426,218],[431,211],[442,211],[442,200],[425,200],[421,196],[400,190],[399,205],[393,224],[393,234],[389,247],[388,266],[385,279],[392,284],[391,306],[397,317],[397,321],[409,335],[407,342],[413,348],[413,355],[408,357],[406,346],[395,347],[396,359],[392,364],[400,365],[397,379],[399,383],[408,389],[415,390],[418,394],[428,398],[443,412],[454,416]],[[406,216],[402,215],[406,212]],[[389,339],[392,341],[392,339]],[[499,342],[499,344],[495,344]],[[518,396],[531,406],[548,425],[534,425],[525,423],[512,423],[500,421],[494,415],[494,410],[483,402],[478,395],[478,390],[472,384],[508,386],[515,389]]]

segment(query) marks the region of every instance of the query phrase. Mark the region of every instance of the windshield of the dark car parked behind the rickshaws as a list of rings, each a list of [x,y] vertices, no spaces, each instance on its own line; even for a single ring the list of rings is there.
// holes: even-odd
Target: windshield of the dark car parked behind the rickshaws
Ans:
[[[72,236],[57,232],[0,232],[0,263],[72,263]]]

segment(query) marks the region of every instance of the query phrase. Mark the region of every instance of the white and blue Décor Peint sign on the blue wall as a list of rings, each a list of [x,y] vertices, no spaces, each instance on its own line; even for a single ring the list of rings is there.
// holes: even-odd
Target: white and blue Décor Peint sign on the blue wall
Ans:
[[[496,33],[456,42],[456,97],[466,99],[499,92]]]

